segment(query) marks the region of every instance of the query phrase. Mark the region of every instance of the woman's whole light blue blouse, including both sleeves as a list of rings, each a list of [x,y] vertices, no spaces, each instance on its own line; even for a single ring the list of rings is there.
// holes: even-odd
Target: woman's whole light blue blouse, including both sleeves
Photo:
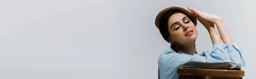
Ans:
[[[213,44],[213,50],[194,55],[172,49],[163,51],[158,58],[160,79],[178,79],[177,68],[208,68],[241,70],[244,55],[236,43]]]

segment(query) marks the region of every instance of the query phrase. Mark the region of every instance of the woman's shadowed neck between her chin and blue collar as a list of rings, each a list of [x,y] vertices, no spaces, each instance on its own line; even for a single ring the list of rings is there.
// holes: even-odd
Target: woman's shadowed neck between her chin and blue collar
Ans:
[[[183,51],[185,54],[193,55],[195,54],[195,42],[187,43],[184,45],[178,45],[180,51]]]

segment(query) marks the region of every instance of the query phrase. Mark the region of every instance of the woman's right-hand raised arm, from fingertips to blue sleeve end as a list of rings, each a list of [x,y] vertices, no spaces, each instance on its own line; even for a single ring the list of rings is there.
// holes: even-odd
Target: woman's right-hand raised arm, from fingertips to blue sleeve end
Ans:
[[[202,19],[207,20],[210,23],[214,23],[216,25],[221,36],[221,39],[223,40],[224,44],[227,45],[227,47],[224,49],[228,51],[231,60],[231,64],[229,65],[228,69],[241,70],[241,67],[245,66],[244,55],[242,51],[239,49],[239,47],[236,45],[236,42],[234,42],[229,32],[227,31],[227,28],[225,27],[224,22],[221,20],[221,18],[215,15],[197,11],[195,9],[191,9],[191,11],[194,13],[194,15],[197,15]]]

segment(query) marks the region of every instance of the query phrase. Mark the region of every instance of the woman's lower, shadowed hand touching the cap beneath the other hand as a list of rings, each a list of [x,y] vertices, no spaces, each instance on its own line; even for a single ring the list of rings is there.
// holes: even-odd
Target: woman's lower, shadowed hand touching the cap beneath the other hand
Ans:
[[[191,8],[188,7],[188,9],[191,11],[192,14],[195,15],[195,17],[199,20],[200,23],[204,25],[204,27],[209,31],[210,29],[214,28],[214,24],[205,20],[203,17],[196,14]]]

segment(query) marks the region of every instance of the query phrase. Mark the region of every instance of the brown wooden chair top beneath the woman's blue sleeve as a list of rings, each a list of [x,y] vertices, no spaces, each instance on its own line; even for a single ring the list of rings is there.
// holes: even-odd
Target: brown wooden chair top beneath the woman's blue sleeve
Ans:
[[[178,68],[179,79],[243,79],[244,71]]]

